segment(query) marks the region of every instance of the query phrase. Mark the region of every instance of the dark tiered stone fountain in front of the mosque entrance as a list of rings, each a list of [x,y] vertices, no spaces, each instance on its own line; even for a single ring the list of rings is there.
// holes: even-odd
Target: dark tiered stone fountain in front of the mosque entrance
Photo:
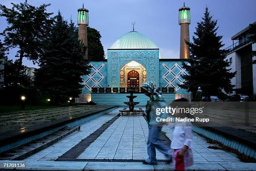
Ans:
[[[133,96],[133,93],[135,92],[133,87],[130,87],[129,91],[130,96],[126,96],[129,98],[129,102],[123,102],[124,104],[127,104],[129,106],[129,110],[119,110],[121,115],[143,115],[143,110],[141,108],[135,109],[134,106],[139,104],[140,102],[133,102],[133,99],[135,99],[137,96]]]

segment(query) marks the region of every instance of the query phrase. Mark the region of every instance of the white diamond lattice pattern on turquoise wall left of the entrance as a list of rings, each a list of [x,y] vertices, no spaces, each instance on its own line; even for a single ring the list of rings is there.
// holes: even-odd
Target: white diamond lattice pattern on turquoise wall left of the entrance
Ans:
[[[104,67],[105,64],[101,64],[98,68],[96,68],[93,64],[91,73],[88,74],[88,78],[82,83],[89,91],[91,91],[91,87],[102,87],[100,82],[105,78],[102,73],[100,73],[100,69]]]

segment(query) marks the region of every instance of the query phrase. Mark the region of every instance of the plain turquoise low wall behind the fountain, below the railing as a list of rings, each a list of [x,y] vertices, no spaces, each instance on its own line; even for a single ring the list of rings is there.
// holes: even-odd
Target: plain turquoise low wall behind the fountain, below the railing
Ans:
[[[129,96],[129,93],[92,93],[92,102],[100,105],[125,105],[123,102],[128,102],[129,99],[126,96]],[[134,93],[134,96],[137,96],[133,99],[134,102],[140,102],[140,106],[145,106],[148,97],[142,93]],[[175,99],[174,93],[162,93],[164,100],[166,102],[172,102]]]

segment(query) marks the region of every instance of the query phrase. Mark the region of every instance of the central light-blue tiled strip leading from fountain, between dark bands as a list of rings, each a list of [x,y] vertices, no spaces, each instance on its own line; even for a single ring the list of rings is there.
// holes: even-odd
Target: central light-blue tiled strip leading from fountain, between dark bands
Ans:
[[[143,116],[120,116],[77,159],[146,159],[148,124]],[[157,151],[157,159],[165,159]]]

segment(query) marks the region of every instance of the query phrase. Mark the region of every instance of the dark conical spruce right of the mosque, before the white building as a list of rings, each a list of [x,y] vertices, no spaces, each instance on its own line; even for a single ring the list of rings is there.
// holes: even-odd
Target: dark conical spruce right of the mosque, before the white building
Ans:
[[[217,35],[217,20],[212,20],[212,16],[205,8],[202,21],[197,22],[193,43],[186,42],[191,53],[190,59],[182,62],[182,67],[189,75],[183,75],[184,84],[179,85],[183,89],[192,92],[195,96],[197,87],[201,87],[210,99],[210,95],[218,94],[221,89],[228,90],[231,85],[230,79],[235,76],[235,72],[230,72],[226,67],[230,66],[225,62],[225,50],[220,50],[222,36]]]

